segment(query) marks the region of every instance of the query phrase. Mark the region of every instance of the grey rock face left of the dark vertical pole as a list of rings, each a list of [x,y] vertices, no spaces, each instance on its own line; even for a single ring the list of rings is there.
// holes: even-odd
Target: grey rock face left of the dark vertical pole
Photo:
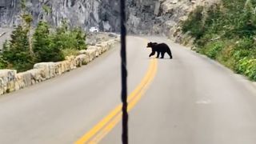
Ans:
[[[100,30],[118,30],[118,2],[111,0],[27,0],[26,7],[34,17],[34,25],[44,19],[53,26],[62,20],[70,26],[88,30],[97,26]],[[47,10],[46,10],[47,9]],[[21,0],[0,0],[0,26],[15,26],[21,23]]]

